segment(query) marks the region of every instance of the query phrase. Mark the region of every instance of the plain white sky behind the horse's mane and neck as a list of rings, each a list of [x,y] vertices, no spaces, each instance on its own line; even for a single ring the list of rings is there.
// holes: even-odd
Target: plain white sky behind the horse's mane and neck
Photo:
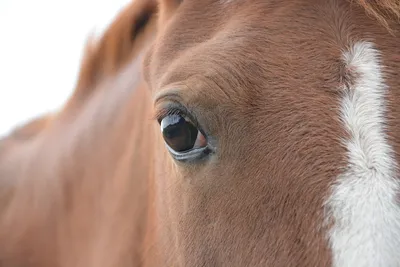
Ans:
[[[0,136],[72,93],[89,33],[130,0],[0,0]]]

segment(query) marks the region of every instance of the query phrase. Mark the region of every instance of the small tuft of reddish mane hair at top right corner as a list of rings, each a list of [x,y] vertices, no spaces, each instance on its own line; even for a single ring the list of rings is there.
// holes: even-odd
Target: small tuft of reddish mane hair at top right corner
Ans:
[[[400,1],[399,0],[354,0],[362,6],[365,11],[378,20],[390,32],[391,20],[400,22]]]

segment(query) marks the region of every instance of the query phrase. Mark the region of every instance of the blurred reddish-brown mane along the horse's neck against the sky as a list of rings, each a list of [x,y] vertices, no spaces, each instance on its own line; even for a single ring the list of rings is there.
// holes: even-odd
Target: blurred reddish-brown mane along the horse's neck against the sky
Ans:
[[[135,0],[113,20],[100,40],[88,38],[74,95],[86,98],[104,79],[116,75],[138,56],[156,28],[156,0]]]

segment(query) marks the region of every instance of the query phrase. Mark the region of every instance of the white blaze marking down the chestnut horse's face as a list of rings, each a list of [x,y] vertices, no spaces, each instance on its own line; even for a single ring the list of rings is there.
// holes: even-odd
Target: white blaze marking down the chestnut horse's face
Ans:
[[[343,60],[356,74],[345,90],[341,119],[350,138],[347,170],[326,205],[333,226],[329,241],[334,267],[400,266],[400,188],[397,164],[385,134],[385,92],[379,53],[356,43]]]

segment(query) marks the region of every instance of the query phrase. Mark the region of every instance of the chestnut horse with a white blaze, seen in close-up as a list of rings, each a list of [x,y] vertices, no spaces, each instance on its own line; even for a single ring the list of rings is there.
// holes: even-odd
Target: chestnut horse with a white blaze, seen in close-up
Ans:
[[[121,14],[0,150],[1,266],[400,266],[398,1]]]

